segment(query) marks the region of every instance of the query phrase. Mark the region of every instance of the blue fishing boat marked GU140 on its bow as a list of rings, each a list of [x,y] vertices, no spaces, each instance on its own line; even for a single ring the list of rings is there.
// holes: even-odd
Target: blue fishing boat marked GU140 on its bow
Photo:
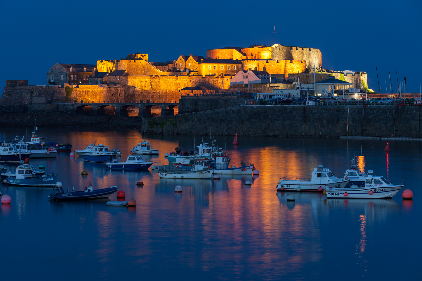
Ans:
[[[27,163],[21,163],[16,168],[16,173],[2,173],[1,179],[8,185],[26,186],[26,187],[43,187],[55,186],[57,175],[45,174],[44,171]]]

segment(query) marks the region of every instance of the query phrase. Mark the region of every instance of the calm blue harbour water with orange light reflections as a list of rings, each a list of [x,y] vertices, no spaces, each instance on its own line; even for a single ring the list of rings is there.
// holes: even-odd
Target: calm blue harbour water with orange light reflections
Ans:
[[[24,133],[10,128],[6,139]],[[119,161],[141,139],[160,150],[152,159],[161,163],[168,163],[164,153],[179,144],[190,149],[194,141],[193,136],[141,136],[138,130],[40,127],[39,133],[69,141],[73,150],[104,142],[120,149]],[[216,139],[223,150],[227,143],[232,162],[250,161],[260,175],[173,180],[160,179],[151,169],[110,171],[68,153],[31,159],[58,174],[65,190],[82,190],[89,181],[95,189],[118,185],[137,206],[110,207],[103,199],[54,202],[47,199],[51,188],[1,185],[12,198],[0,210],[3,278],[420,280],[422,142],[391,142],[387,154],[384,141],[240,137],[236,148],[233,137]],[[310,177],[316,158],[335,175],[344,173],[353,153],[361,155],[361,145],[358,166],[406,179],[413,201],[402,202],[400,191],[390,200],[294,193],[296,201],[287,203],[288,193],[276,191],[279,177]],[[8,166],[14,171],[17,163]],[[87,176],[78,175],[84,170]],[[144,186],[136,186],[138,181]],[[183,193],[174,192],[176,185]]]

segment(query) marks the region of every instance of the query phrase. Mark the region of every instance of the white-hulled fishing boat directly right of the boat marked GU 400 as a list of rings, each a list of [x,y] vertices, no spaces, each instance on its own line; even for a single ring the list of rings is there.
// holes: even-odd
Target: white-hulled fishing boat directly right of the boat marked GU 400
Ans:
[[[220,150],[215,153],[215,162],[210,162],[210,166],[213,168],[213,174],[250,175],[255,170],[254,165],[251,163],[241,161],[239,164],[232,164],[230,160],[230,155],[224,151]]]

